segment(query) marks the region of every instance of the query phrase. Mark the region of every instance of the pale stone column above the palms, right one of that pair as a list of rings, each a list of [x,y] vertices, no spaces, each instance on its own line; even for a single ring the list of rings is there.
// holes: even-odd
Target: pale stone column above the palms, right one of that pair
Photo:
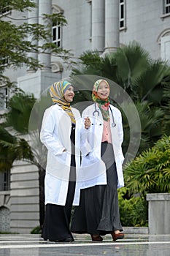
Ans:
[[[119,47],[119,1],[105,0],[105,52]]]

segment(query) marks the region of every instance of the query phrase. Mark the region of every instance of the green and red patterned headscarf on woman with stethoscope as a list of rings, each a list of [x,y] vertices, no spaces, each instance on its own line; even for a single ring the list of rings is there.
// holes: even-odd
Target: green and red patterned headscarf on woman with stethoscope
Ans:
[[[107,81],[104,79],[99,79],[96,81],[96,83],[94,83],[93,91],[92,91],[92,99],[93,99],[93,102],[98,103],[98,107],[101,110],[101,114],[104,120],[109,121],[109,97],[103,100],[100,97],[98,97],[98,94],[97,94],[98,86],[102,81],[107,83]],[[107,85],[109,86],[109,83],[107,83]]]

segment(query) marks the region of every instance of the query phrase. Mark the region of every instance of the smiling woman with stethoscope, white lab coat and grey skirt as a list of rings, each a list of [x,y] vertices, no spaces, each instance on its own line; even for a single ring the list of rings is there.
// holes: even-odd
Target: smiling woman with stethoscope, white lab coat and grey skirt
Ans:
[[[117,199],[117,188],[124,186],[122,117],[109,104],[106,80],[96,81],[92,97],[95,103],[82,112],[82,189],[71,230],[89,233],[93,241],[110,233],[115,241],[124,237]]]

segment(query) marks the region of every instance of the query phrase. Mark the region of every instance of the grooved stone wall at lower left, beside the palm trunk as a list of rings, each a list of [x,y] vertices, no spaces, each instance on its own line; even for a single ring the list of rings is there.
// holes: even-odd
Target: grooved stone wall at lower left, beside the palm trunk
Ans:
[[[30,233],[39,225],[39,173],[35,165],[15,162],[11,170],[10,231]]]

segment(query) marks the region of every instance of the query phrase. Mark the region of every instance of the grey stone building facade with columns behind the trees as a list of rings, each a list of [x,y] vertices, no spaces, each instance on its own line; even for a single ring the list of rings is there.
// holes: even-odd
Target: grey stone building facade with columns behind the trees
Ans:
[[[44,23],[42,14],[61,12],[67,26],[53,24],[52,40],[59,47],[72,50],[77,61],[86,50],[111,53],[121,45],[136,41],[150,53],[152,59],[170,60],[170,0],[34,0],[37,8],[22,14],[28,23]],[[19,12],[3,12],[20,23]],[[7,17],[6,17],[7,18]],[[26,21],[24,20],[24,21]],[[36,42],[41,45],[42,42]],[[69,77],[68,67],[56,56],[32,53],[43,68],[36,72],[23,67],[7,69],[11,81],[38,99],[42,91],[57,80]],[[9,91],[1,84],[1,110],[7,108]],[[0,231],[29,233],[39,225],[38,170],[25,162],[15,162],[10,176],[1,173]]]

